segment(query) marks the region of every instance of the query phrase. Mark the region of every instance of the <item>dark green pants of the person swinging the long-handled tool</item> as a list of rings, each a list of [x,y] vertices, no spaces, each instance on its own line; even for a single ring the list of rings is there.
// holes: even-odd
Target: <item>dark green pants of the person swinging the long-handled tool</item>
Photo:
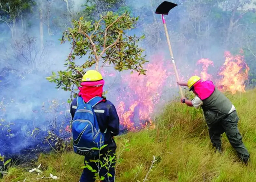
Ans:
[[[212,145],[221,151],[221,135],[225,132],[231,146],[237,151],[238,157],[245,163],[248,162],[250,155],[238,130],[238,115],[236,111],[228,114],[223,120],[209,128],[209,135]]]

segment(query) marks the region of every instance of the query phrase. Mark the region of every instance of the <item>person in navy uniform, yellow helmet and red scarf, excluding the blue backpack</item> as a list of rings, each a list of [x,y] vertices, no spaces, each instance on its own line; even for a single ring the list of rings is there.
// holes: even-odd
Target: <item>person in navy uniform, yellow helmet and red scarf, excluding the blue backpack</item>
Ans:
[[[103,93],[103,85],[104,85],[104,80],[102,78],[102,75],[95,70],[89,70],[87,71],[81,82],[81,86],[79,87],[79,96],[83,98],[84,102],[88,102],[91,98],[94,98],[95,96],[100,96],[102,97]],[[71,103],[71,108],[70,108],[70,113],[72,116],[72,120],[75,115],[77,103],[76,103],[76,98],[73,100]],[[106,157],[106,154],[108,155],[114,155],[116,153],[116,143],[113,139],[114,136],[119,134],[119,118],[117,115],[116,108],[114,105],[107,99],[103,99],[102,102],[98,103],[97,105],[94,106],[94,112],[97,117],[97,121],[99,124],[99,128],[101,132],[106,132],[105,134],[105,141],[104,145],[106,146],[102,151],[102,161],[103,157]],[[110,152],[109,152],[110,151]],[[85,161],[89,162],[90,160],[93,160],[94,158],[92,157],[85,157]],[[88,163],[93,169],[98,171],[98,167],[96,163],[94,162],[89,162]],[[107,171],[106,169],[101,169],[99,172],[100,176],[104,176],[105,180],[109,182],[114,182],[114,176],[115,176],[115,170],[114,170],[114,165],[110,168],[110,173],[112,177],[107,177]],[[94,173],[92,173],[89,169],[84,168],[83,173],[80,177],[80,182],[94,182]]]

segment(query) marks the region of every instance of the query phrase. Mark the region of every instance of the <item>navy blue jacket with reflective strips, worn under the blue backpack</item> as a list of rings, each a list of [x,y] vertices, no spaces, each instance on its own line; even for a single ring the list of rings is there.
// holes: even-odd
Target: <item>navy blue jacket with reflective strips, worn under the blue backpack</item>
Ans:
[[[77,103],[75,98],[70,106],[72,120],[75,115],[76,106]],[[108,149],[115,152],[116,142],[113,137],[119,134],[119,117],[117,115],[116,108],[109,100],[103,99],[102,102],[94,106],[94,112],[101,132],[104,132],[107,128],[104,145],[108,146],[104,148],[103,153],[107,153]]]

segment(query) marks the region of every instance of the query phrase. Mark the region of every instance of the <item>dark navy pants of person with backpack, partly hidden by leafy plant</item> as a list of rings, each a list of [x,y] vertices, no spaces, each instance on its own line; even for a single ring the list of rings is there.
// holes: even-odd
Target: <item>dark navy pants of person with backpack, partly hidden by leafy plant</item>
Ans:
[[[110,154],[109,154],[109,155],[110,155]],[[113,154],[111,154],[111,155],[113,156]],[[104,162],[103,157],[106,157],[106,155],[103,154],[103,155],[101,156],[101,159],[100,159],[100,160],[101,160],[102,162]],[[95,162],[90,162],[90,160],[95,160],[95,159],[94,159],[94,157],[84,157],[84,161],[87,161],[88,164],[89,164],[93,169],[95,169],[96,171],[98,171],[98,167],[97,167],[98,164],[96,165]],[[99,166],[100,166],[100,164],[99,164]],[[99,171],[99,175],[105,177],[105,179],[104,179],[102,182],[114,182],[114,176],[115,176],[115,168],[114,168],[114,166],[115,166],[115,163],[112,164],[112,166],[111,166],[110,169],[109,169],[109,172],[108,172],[105,168],[101,168],[101,170]],[[107,173],[110,173],[110,174],[112,175],[112,177],[109,177],[109,178],[108,178]],[[95,174],[95,173],[91,172],[89,169],[84,168],[84,169],[83,169],[83,173],[82,173],[82,175],[81,175],[81,177],[80,177],[80,182],[94,182],[94,181],[95,181],[95,179],[94,179],[95,175],[94,175],[94,174]]]

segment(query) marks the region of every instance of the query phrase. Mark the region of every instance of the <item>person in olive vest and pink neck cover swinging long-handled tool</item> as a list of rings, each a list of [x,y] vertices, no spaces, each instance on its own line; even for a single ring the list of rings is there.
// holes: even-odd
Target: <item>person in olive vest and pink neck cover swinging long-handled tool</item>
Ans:
[[[221,135],[225,132],[231,146],[237,151],[238,157],[247,163],[250,155],[242,142],[238,130],[239,118],[230,100],[210,80],[203,81],[199,76],[192,76],[188,83],[177,83],[180,86],[189,87],[189,91],[193,91],[196,95],[193,100],[181,98],[181,102],[190,107],[202,107],[215,149],[221,152]]]

